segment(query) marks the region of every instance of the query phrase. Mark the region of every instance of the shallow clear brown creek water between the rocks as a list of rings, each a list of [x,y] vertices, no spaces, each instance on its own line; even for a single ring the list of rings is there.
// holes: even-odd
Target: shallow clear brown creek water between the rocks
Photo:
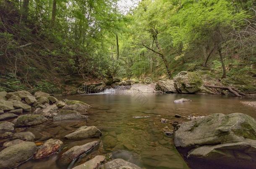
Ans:
[[[194,161],[184,160],[175,149],[172,138],[163,133],[164,128],[168,127],[172,130],[172,125],[161,123],[162,118],[177,120],[174,117],[175,114],[205,116],[214,113],[238,112],[256,118],[254,108],[240,103],[240,101],[247,100],[235,97],[134,93],[131,95],[73,95],[58,99],[64,98],[90,104],[92,108],[88,110],[88,122],[47,121],[39,126],[20,129],[34,133],[37,137],[36,143],[43,143],[47,139],[54,138],[62,140],[64,146],[60,153],[41,160],[29,160],[18,166],[18,169],[72,168],[95,155],[109,156],[111,153],[113,158],[122,158],[146,169],[187,169],[195,168],[195,166],[201,168],[203,166],[200,166],[200,162],[194,165]],[[190,98],[192,102],[173,103],[174,100],[180,98]],[[188,121],[186,118],[179,120]],[[80,141],[68,141],[63,138],[66,134],[84,125],[96,126],[102,131],[103,136],[100,139]],[[101,144],[90,154],[73,162],[72,166],[58,165],[57,159],[61,153],[73,146],[94,140],[101,140]]]

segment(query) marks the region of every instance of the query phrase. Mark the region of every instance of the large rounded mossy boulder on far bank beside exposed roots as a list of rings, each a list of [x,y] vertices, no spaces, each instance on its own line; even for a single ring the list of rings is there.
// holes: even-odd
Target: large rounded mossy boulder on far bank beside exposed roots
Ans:
[[[182,71],[173,78],[174,86],[179,93],[195,93],[203,84],[201,77],[194,72]]]

